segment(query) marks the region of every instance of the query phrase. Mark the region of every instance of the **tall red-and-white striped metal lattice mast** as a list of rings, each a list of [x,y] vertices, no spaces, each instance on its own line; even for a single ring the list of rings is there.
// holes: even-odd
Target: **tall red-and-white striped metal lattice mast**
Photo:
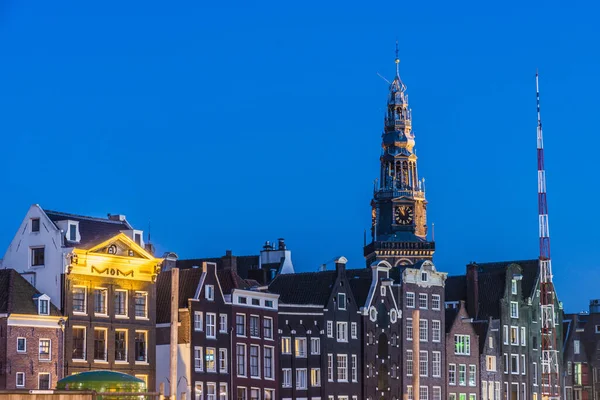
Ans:
[[[548,225],[548,202],[546,200],[546,169],[544,167],[544,138],[540,115],[539,76],[535,73],[537,101],[537,161],[538,161],[538,214],[540,228],[540,308],[542,317],[542,399],[560,399],[560,373],[558,360],[558,338],[555,324],[556,293],[552,283],[550,259],[550,229]]]

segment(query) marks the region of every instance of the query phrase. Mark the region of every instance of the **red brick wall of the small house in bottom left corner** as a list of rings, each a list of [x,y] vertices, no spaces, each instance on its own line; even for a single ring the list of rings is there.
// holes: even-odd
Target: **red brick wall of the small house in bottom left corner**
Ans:
[[[17,338],[26,339],[26,352],[17,352]],[[50,361],[39,359],[39,340],[50,339]],[[6,389],[16,389],[17,372],[25,373],[24,389],[38,388],[38,374],[40,372],[50,373],[50,388],[56,386],[56,382],[62,378],[62,337],[61,330],[51,328],[33,328],[24,326],[8,326],[3,338],[3,346],[6,346],[7,362],[4,367],[6,371]],[[22,388],[19,388],[22,389]]]

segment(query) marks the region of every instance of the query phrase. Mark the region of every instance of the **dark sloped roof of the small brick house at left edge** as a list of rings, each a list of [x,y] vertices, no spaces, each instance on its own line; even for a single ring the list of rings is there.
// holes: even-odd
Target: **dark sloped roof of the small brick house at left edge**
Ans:
[[[0,313],[38,315],[34,298],[41,294],[14,269],[0,270]],[[62,315],[52,302],[50,315]]]

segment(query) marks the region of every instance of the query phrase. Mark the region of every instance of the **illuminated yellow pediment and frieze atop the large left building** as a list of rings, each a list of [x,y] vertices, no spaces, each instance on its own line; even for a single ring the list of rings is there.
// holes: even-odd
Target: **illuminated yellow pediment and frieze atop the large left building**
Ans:
[[[154,281],[162,261],[119,233],[91,249],[74,248],[69,273]]]

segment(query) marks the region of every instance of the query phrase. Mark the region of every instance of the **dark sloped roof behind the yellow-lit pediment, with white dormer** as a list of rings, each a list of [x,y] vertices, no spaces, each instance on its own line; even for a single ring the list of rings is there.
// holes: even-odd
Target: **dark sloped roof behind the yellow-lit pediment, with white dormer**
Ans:
[[[84,215],[69,214],[60,211],[44,210],[48,218],[54,223],[58,221],[71,220],[79,222],[79,242],[69,242],[65,238],[65,246],[77,247],[80,249],[89,249],[100,244],[121,231],[133,229],[127,221],[113,221],[108,218],[88,217]]]

